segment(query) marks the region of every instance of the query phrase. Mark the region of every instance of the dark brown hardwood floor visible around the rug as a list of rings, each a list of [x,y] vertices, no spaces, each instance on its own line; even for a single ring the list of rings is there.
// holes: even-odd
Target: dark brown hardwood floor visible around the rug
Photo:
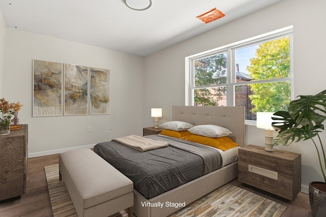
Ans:
[[[44,166],[58,164],[58,162],[59,154],[30,158],[28,161],[29,172],[27,177],[26,194],[22,195],[21,199],[0,204],[0,216],[53,216],[45,179]],[[300,192],[293,201],[288,201],[275,195],[263,192],[259,189],[250,187],[249,185],[243,185],[237,179],[231,181],[231,184],[287,206],[287,209],[282,214],[282,217],[312,216],[309,205],[309,195],[307,194]]]

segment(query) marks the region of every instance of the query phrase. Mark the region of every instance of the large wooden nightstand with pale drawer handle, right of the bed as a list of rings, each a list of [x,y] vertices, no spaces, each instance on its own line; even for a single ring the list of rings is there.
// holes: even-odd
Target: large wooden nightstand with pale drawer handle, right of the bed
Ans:
[[[248,145],[239,149],[238,180],[293,200],[301,190],[301,154]]]

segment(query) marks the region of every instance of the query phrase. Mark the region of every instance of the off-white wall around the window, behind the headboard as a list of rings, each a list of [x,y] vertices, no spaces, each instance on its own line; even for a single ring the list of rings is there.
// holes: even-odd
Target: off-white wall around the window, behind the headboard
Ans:
[[[293,25],[294,95],[314,95],[326,89],[326,1],[284,0],[215,28],[205,34],[145,57],[145,125],[152,125],[151,107],[161,107],[159,123],[171,120],[171,107],[184,105],[184,58],[233,42]],[[226,15],[227,16],[227,15]],[[222,18],[223,19],[223,18]],[[216,21],[218,22],[218,21]],[[208,24],[209,25],[209,24]],[[277,135],[277,134],[275,134]],[[326,143],[326,132],[321,135]],[[246,144],[264,145],[264,130],[246,126]],[[310,141],[276,147],[302,153],[303,191],[310,181],[322,181]]]

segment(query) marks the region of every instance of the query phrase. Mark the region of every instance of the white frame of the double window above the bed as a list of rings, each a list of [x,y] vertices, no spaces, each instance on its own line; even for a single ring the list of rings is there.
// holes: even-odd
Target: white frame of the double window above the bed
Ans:
[[[278,38],[289,37],[290,43],[290,75],[286,78],[275,78],[259,81],[243,81],[236,82],[236,70],[235,70],[235,51],[243,47],[248,47],[255,44],[264,43]],[[195,71],[194,63],[198,59],[206,58],[209,56],[226,53],[227,57],[227,83],[215,84],[209,86],[195,86]],[[194,105],[194,90],[205,87],[221,87],[226,86],[227,90],[227,106],[234,106],[237,85],[247,85],[253,83],[269,83],[279,81],[290,81],[291,88],[291,100],[294,99],[294,72],[293,72],[293,26],[287,26],[273,32],[262,34],[256,37],[252,37],[246,40],[228,44],[222,47],[214,48],[208,51],[197,53],[191,56],[185,57],[185,105]],[[256,125],[256,120],[245,120],[247,125]]]

